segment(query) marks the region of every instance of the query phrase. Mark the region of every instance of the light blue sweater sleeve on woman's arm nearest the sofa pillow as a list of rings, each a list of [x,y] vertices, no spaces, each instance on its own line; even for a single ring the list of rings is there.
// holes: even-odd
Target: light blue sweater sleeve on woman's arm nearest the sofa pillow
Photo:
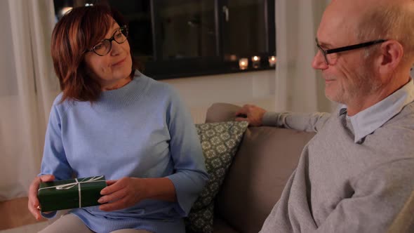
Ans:
[[[167,109],[170,151],[175,173],[169,175],[178,199],[178,213],[187,216],[208,180],[201,143],[192,117],[175,91]]]

